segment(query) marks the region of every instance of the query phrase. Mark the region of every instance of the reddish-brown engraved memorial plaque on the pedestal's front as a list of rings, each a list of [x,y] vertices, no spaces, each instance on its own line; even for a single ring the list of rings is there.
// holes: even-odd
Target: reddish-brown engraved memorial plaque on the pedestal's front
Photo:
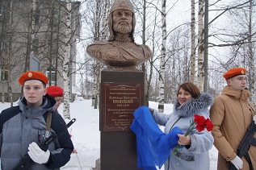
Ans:
[[[103,83],[103,131],[131,131],[133,112],[141,106],[141,84]]]

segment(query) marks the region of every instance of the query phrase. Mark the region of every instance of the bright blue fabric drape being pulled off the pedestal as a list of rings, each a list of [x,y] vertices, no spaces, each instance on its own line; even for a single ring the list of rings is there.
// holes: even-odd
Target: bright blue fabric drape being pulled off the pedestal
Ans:
[[[140,106],[133,115],[130,128],[136,134],[137,168],[155,170],[156,165],[161,168],[170,150],[178,144],[177,134],[183,131],[174,127],[168,135],[163,133],[146,106]]]

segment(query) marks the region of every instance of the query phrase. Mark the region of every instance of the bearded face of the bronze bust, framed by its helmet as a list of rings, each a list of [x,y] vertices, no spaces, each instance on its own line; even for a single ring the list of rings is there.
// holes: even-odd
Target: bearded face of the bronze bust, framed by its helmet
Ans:
[[[112,13],[113,29],[115,33],[129,34],[132,32],[132,11],[115,10]]]

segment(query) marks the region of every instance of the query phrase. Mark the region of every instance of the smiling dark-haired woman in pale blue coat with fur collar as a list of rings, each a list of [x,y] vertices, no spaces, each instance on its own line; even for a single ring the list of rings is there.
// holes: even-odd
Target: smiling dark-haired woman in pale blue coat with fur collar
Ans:
[[[213,103],[213,97],[210,94],[200,93],[196,85],[186,82],[178,87],[177,97],[178,99],[174,102],[172,114],[162,114],[158,113],[157,110],[150,109],[153,119],[157,124],[165,126],[166,134],[174,126],[178,126],[185,134],[195,114],[209,118],[208,107]],[[187,137],[178,135],[178,137],[178,144],[184,146],[183,151],[179,150],[176,155],[170,151],[170,157],[166,160],[165,169],[209,169],[210,160],[208,151],[213,145],[211,132],[206,130],[199,132],[195,130],[192,135],[187,135]]]

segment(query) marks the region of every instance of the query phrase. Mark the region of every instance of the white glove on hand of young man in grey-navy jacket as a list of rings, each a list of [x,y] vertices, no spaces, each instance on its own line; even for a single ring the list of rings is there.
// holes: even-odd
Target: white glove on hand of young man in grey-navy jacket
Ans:
[[[40,147],[34,142],[29,144],[27,153],[31,157],[31,160],[37,164],[47,163],[50,157],[50,151],[41,150]]]

